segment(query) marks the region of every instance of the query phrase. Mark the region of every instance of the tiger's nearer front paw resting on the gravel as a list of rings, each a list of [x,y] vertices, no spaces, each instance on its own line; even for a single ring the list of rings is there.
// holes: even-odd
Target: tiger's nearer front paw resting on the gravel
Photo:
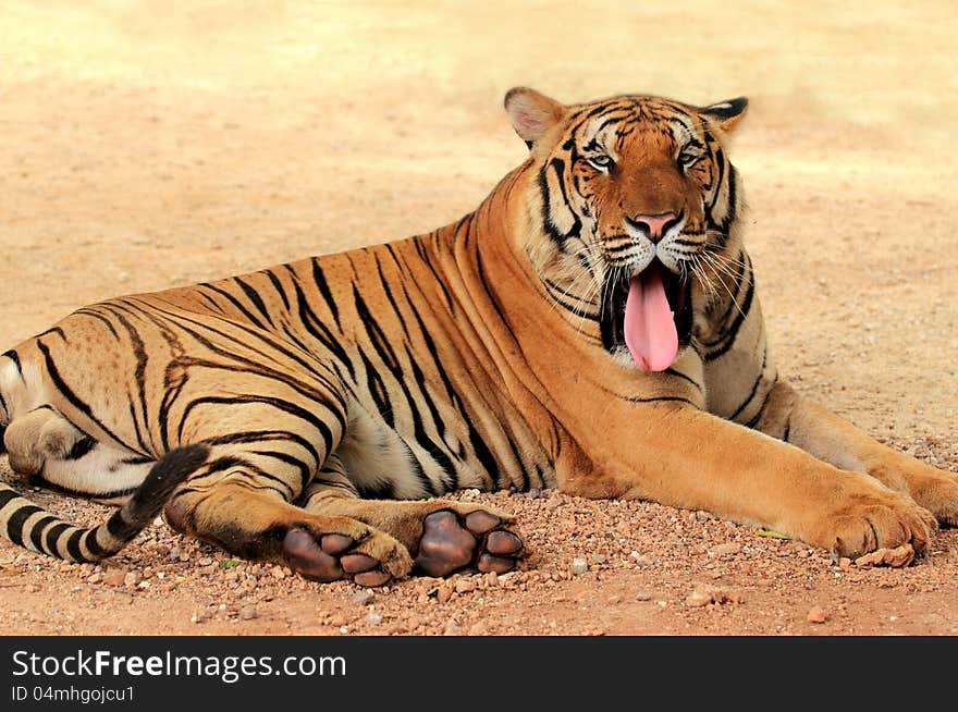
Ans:
[[[847,493],[807,540],[851,558],[905,543],[920,555],[936,527],[932,513],[909,495],[875,486]]]

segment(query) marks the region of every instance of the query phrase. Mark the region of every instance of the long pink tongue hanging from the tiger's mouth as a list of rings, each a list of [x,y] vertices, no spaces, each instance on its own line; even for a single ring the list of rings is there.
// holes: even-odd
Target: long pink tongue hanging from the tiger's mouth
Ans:
[[[678,354],[678,332],[658,265],[629,282],[625,343],[636,364],[646,371],[664,371]]]

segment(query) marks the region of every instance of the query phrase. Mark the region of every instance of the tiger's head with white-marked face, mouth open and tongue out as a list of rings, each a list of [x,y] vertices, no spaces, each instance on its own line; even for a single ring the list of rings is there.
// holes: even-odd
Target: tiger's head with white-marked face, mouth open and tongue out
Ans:
[[[526,253],[558,307],[598,322],[617,360],[668,368],[691,340],[693,303],[730,272],[741,199],[722,140],[747,105],[506,94],[530,149]]]

